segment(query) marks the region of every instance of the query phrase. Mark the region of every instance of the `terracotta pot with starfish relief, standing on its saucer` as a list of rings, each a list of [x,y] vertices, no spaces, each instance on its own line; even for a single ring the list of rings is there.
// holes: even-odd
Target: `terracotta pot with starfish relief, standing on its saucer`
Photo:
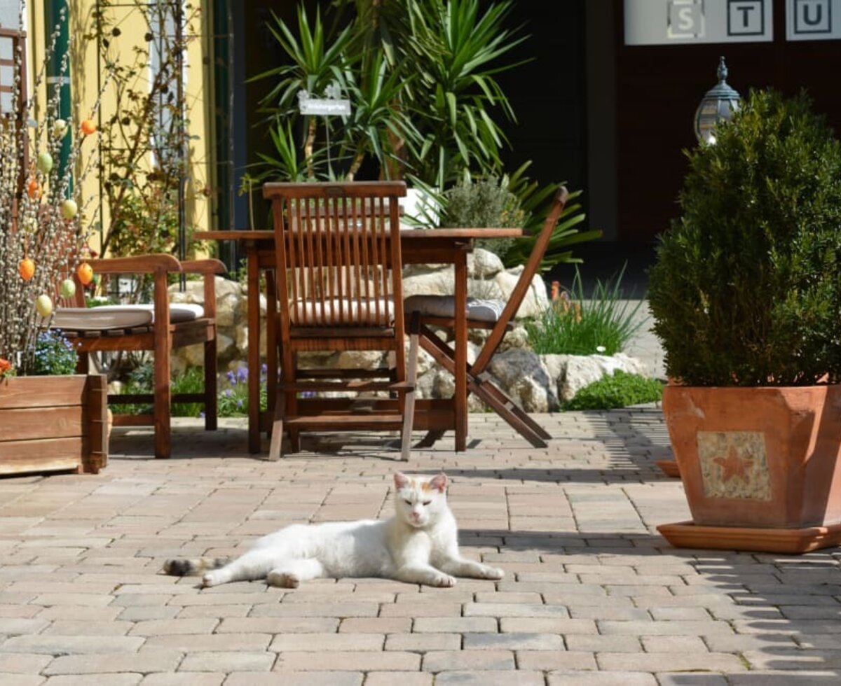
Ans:
[[[692,522],[674,545],[805,552],[841,542],[841,386],[669,385],[663,411]]]

